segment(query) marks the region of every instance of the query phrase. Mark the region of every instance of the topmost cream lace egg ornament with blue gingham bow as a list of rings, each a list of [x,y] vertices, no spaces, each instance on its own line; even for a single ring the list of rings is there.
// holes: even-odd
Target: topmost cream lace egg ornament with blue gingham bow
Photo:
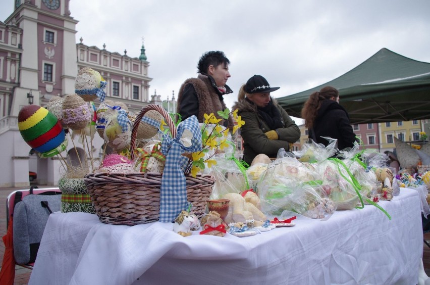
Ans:
[[[92,68],[84,67],[78,72],[75,80],[75,93],[79,94],[84,101],[90,102],[99,98],[100,102],[104,101],[106,92],[106,81],[100,73]]]

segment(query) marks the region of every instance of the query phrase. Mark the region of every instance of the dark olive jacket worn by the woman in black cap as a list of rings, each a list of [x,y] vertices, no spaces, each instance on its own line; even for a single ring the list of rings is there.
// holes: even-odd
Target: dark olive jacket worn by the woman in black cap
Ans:
[[[241,127],[240,135],[243,138],[243,160],[251,164],[258,154],[265,154],[270,158],[276,158],[279,149],[289,150],[289,143],[295,143],[300,139],[300,129],[291,119],[288,113],[272,98],[273,104],[282,117],[283,127],[276,129],[279,138],[268,139],[264,134],[271,129],[263,118],[258,114],[257,106],[247,100],[235,102],[233,110],[238,110],[245,124]]]

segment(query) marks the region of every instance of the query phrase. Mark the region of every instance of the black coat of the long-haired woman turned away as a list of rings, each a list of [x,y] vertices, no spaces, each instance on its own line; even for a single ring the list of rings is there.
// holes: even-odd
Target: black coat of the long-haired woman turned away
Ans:
[[[338,139],[338,149],[352,148],[355,141],[355,133],[349,121],[346,110],[333,100],[324,100],[317,111],[315,122],[309,130],[309,138],[316,137],[316,142],[328,145],[329,141],[321,136]],[[315,140],[315,139],[314,139]]]

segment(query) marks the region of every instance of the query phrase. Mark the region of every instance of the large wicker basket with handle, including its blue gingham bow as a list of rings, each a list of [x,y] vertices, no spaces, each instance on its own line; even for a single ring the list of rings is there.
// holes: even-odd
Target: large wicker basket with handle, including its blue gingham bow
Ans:
[[[150,157],[166,157],[164,171],[87,174],[84,182],[96,214],[103,223],[136,225],[154,221],[172,222],[191,204],[191,212],[198,218],[205,213],[206,200],[212,193],[215,178],[209,174],[192,177],[182,170],[188,163],[188,158],[182,154],[201,148],[201,136],[195,116],[182,122],[177,129],[162,107],[149,105],[142,108],[131,132],[132,160],[138,156],[145,160],[148,155],[142,155],[136,150],[136,137],[139,123],[145,113],[151,110],[160,113],[170,128],[170,135],[165,134],[162,141],[162,154],[154,148],[149,154]]]

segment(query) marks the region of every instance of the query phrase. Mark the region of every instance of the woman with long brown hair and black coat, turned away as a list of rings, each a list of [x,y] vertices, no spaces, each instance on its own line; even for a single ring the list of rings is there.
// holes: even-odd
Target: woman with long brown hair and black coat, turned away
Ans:
[[[336,138],[338,149],[352,148],[355,133],[346,110],[339,105],[339,91],[331,86],[321,88],[310,94],[302,112],[309,138],[327,146],[329,141],[323,136]]]

